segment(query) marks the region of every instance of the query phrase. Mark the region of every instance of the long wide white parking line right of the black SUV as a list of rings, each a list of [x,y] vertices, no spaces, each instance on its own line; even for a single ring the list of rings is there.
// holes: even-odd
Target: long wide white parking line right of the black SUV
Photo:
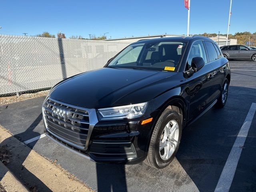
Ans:
[[[230,189],[230,186],[234,178],[234,174],[236,172],[236,166],[238,164],[238,160],[240,158],[248,131],[252,124],[252,118],[254,116],[255,111],[256,103],[252,103],[250,110],[244,120],[244,124],[242,125],[238,133],[238,136],[236,137],[236,141],[234,142],[234,145],[230,151],[226,164],[222,170],[220,179],[215,188],[215,192],[228,192]]]

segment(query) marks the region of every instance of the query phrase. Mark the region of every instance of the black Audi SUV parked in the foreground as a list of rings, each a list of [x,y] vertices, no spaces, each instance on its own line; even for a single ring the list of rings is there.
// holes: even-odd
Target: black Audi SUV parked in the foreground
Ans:
[[[225,106],[229,83],[228,60],[209,38],[140,40],[55,85],[42,106],[44,132],[95,162],[164,168],[182,129]]]

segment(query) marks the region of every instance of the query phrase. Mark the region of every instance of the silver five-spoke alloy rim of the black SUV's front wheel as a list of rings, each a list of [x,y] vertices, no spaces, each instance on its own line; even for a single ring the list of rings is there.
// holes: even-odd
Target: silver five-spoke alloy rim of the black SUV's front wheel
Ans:
[[[162,160],[168,160],[178,146],[179,125],[176,120],[170,120],[161,134],[159,154]]]

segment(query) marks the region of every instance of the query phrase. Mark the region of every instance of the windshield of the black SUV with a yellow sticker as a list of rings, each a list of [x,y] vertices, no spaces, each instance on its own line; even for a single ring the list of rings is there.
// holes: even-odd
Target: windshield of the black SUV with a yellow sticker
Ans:
[[[125,48],[107,67],[176,71],[185,42],[136,43]]]

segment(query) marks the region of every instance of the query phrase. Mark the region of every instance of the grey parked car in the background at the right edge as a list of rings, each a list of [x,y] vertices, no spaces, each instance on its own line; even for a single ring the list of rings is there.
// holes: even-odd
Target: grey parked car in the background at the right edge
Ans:
[[[245,45],[230,45],[220,48],[223,56],[227,59],[251,59],[256,61],[256,50]]]

